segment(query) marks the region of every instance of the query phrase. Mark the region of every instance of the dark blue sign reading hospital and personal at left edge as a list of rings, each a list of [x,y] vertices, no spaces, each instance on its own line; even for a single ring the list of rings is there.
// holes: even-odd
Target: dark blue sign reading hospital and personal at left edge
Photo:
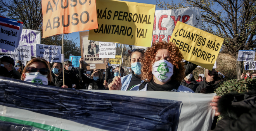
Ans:
[[[14,51],[19,45],[23,25],[17,20],[0,17],[0,49]]]

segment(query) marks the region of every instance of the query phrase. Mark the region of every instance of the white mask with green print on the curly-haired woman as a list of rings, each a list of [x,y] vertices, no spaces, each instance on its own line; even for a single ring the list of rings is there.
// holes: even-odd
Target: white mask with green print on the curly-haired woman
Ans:
[[[152,74],[158,81],[166,82],[173,76],[173,64],[167,60],[159,60],[153,64]]]

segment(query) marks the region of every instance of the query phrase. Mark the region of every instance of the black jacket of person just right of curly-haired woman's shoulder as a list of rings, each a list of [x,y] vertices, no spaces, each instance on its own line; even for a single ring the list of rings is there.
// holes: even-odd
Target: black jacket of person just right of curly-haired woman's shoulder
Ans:
[[[197,82],[197,84],[195,84],[194,86],[195,93],[200,93],[201,89],[203,88],[206,88],[206,94],[214,93],[219,83],[220,83],[219,81],[207,82],[204,77],[203,81]]]

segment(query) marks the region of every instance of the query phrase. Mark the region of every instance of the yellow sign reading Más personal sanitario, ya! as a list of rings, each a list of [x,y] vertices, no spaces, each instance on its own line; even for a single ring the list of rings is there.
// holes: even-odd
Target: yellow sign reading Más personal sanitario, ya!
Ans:
[[[151,47],[156,5],[96,0],[98,29],[89,40]]]

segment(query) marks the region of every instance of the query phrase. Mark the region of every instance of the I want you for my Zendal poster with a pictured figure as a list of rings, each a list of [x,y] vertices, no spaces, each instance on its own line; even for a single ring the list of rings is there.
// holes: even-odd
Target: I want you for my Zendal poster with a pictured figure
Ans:
[[[104,59],[99,57],[99,42],[88,40],[88,36],[82,36],[82,42],[84,64],[103,64]]]

